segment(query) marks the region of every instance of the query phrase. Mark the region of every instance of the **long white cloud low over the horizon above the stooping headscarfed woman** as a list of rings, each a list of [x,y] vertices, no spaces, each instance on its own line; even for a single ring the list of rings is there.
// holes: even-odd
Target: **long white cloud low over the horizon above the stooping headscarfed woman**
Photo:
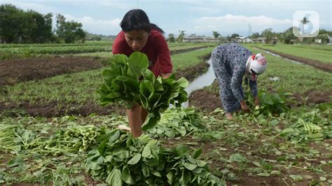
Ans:
[[[251,24],[252,32],[261,32],[267,28],[273,28],[274,31],[284,31],[291,27],[292,20],[279,20],[272,17],[227,14],[219,17],[200,17],[193,22],[193,32],[209,33],[212,30],[219,33],[238,33],[247,34],[248,24]]]

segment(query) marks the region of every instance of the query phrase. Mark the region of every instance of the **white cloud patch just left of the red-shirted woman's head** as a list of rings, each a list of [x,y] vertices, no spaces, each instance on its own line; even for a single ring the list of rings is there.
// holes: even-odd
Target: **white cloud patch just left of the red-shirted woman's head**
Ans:
[[[65,14],[64,17],[66,17],[67,21],[73,20],[75,22],[81,22],[83,29],[92,34],[114,35],[120,31],[120,18],[113,20],[97,20],[90,16],[74,17],[68,14]]]

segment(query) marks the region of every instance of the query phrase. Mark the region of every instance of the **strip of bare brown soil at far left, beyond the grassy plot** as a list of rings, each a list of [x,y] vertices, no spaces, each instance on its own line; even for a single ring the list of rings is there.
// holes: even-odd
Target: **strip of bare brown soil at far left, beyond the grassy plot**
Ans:
[[[101,67],[102,63],[93,57],[56,56],[5,60],[0,61],[0,86]]]

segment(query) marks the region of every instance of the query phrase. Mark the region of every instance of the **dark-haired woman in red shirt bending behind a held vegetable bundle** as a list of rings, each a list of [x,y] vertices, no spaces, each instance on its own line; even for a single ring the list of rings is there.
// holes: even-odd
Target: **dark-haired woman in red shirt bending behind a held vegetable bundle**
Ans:
[[[149,69],[155,77],[170,77],[172,62],[170,50],[162,34],[164,31],[157,25],[150,23],[143,10],[133,9],[125,14],[120,23],[122,31],[116,36],[113,43],[113,55],[124,54],[128,57],[132,52],[139,51],[146,54],[149,60]],[[141,124],[146,120],[148,113],[141,106],[132,106],[127,109],[129,126],[135,137],[141,136]]]

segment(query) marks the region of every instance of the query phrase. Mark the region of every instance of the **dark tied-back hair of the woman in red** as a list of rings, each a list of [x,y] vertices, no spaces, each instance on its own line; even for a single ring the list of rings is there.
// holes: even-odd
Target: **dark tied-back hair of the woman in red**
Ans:
[[[150,23],[148,15],[141,9],[132,9],[127,12],[120,23],[120,27],[123,31],[143,29],[149,33],[151,29],[156,29],[160,31],[161,34],[165,33],[165,31],[160,29],[156,24]]]

